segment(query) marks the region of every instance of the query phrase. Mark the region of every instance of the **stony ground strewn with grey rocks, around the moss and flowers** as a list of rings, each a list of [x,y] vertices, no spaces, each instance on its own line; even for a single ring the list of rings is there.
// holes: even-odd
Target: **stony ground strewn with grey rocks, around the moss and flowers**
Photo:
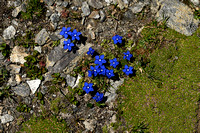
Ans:
[[[82,63],[83,58],[90,58],[86,55],[89,47],[101,53],[103,40],[111,40],[116,34],[132,40],[134,46],[143,26],[155,19],[165,21],[169,28],[186,36],[192,35],[199,24],[199,20],[193,16],[194,9],[200,7],[198,0],[40,2],[42,12],[32,13],[31,18],[23,15],[30,11],[28,0],[0,2],[0,44],[10,48],[10,54],[6,57],[3,50],[0,52],[1,70],[4,68],[9,73],[9,76],[1,78],[1,90],[4,92],[0,101],[1,132],[19,131],[23,122],[32,115],[40,116],[44,110],[46,115],[56,114],[59,119],[64,119],[69,132],[102,132],[105,125],[116,122],[117,89],[124,78],[109,80],[111,87],[104,94],[103,107],[97,106],[89,94],[73,94],[78,104],[65,97],[85,78],[85,75],[73,70]],[[188,3],[193,3],[193,6]],[[65,39],[59,35],[62,27],[71,27],[82,33],[81,41],[71,52],[63,49]],[[25,57],[33,55],[34,50],[39,54],[36,64],[41,68],[38,70],[38,73],[41,71],[39,76],[35,74],[37,72],[30,72],[31,69],[25,65]],[[31,75],[34,78],[28,76],[31,73],[34,73]],[[52,77],[54,73],[60,74],[61,82],[52,82],[56,80]],[[5,86],[10,86],[10,89],[5,90]],[[52,86],[60,89],[50,92]],[[42,98],[38,95],[42,95]],[[25,107],[20,111],[23,105]],[[109,130],[120,132],[112,128]]]

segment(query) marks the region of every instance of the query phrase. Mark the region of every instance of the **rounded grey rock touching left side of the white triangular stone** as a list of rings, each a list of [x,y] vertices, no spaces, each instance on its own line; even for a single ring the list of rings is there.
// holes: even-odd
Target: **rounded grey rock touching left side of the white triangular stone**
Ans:
[[[22,97],[26,97],[30,95],[30,88],[26,83],[22,83],[16,87],[13,88],[13,91],[15,94],[22,96]]]

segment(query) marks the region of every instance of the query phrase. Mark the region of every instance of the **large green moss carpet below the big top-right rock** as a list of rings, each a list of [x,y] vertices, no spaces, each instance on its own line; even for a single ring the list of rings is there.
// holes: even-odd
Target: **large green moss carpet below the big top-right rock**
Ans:
[[[154,26],[143,29],[140,40],[148,42],[143,41],[147,46],[143,49],[151,51],[146,55],[149,61],[139,66],[140,71],[136,67],[136,76],[127,79],[119,91],[119,109],[128,131],[195,132],[200,97],[199,33],[200,27],[189,37]],[[159,45],[151,49],[151,44]]]

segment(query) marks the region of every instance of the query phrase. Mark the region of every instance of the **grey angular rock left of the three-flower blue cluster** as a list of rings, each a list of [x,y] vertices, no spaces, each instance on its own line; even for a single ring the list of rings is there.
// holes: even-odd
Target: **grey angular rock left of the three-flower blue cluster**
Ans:
[[[35,43],[39,45],[44,45],[47,39],[49,38],[49,34],[47,33],[46,29],[43,28],[35,37]]]

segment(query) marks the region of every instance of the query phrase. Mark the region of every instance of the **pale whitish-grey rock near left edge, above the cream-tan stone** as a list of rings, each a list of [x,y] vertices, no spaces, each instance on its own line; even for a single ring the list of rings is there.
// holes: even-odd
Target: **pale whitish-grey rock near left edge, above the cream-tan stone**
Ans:
[[[16,34],[15,28],[11,25],[3,31],[3,38],[4,39],[12,39]]]

